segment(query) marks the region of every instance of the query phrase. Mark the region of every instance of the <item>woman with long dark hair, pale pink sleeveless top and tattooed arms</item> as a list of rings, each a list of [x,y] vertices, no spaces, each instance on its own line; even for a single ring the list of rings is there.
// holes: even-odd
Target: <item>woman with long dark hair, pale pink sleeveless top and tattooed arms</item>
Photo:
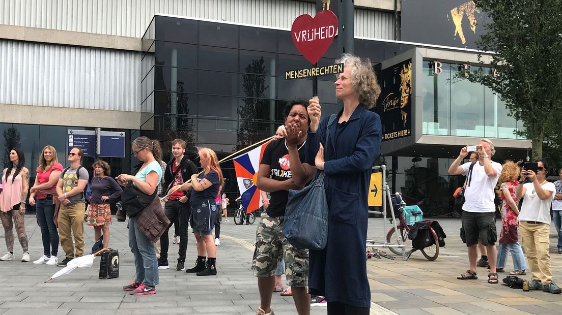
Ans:
[[[29,262],[28,235],[25,234],[25,196],[29,189],[29,170],[25,168],[24,152],[14,148],[10,151],[10,167],[2,173],[4,189],[0,193],[0,219],[4,226],[6,247],[8,253],[0,260],[14,260],[13,256],[13,223],[16,225],[17,238],[20,239],[21,248],[24,249],[22,262]]]

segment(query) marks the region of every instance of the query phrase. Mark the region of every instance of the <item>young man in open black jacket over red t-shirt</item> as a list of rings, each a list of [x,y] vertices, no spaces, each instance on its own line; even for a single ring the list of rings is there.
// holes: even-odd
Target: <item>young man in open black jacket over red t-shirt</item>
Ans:
[[[174,139],[172,141],[172,155],[174,159],[166,166],[164,172],[164,186],[162,191],[169,193],[171,187],[182,185],[187,182],[191,175],[197,174],[197,166],[185,156],[186,143],[182,139]],[[185,270],[185,252],[187,251],[188,239],[188,222],[189,215],[191,215],[191,206],[189,205],[189,195],[191,191],[178,190],[172,193],[166,200],[164,213],[170,219],[170,226],[178,220],[179,230],[179,250],[178,250],[178,263],[176,270]],[[160,237],[160,258],[158,258],[158,269],[168,269],[168,248],[169,237],[168,231],[170,226],[166,229],[164,234]]]

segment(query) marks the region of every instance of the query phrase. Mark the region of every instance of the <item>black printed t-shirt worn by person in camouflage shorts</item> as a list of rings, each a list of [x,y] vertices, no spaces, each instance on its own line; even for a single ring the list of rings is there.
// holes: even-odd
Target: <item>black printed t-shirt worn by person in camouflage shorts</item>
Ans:
[[[301,148],[301,146],[298,146]],[[298,150],[298,156],[303,162],[305,160],[305,149]],[[270,178],[275,180],[287,180],[292,178],[291,165],[289,165],[289,150],[285,146],[285,140],[272,141],[264,150],[264,156],[260,164],[269,165]],[[270,193],[268,215],[277,217],[285,215],[288,191],[274,191]]]

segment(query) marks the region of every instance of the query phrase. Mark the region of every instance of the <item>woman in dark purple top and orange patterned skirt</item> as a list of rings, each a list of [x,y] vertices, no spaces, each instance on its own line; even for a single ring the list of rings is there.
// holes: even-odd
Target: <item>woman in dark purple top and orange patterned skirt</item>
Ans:
[[[93,165],[94,178],[90,183],[90,206],[88,207],[88,225],[94,227],[94,235],[99,239],[103,234],[103,247],[109,245],[109,225],[111,224],[110,201],[121,196],[121,186],[110,177],[110,167],[105,161]]]

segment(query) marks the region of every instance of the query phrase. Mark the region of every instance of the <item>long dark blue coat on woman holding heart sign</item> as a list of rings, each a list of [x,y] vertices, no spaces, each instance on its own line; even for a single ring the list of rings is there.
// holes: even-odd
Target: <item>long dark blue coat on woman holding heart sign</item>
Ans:
[[[340,124],[343,109],[328,126],[325,117],[316,133],[309,132],[306,161],[314,165],[319,142],[324,146],[324,186],[327,189],[328,244],[310,251],[309,289],[328,302],[370,307],[367,279],[366,238],[368,189],[371,167],[380,154],[382,126],[378,114],[359,104],[346,124]],[[338,130],[337,130],[338,129]]]

